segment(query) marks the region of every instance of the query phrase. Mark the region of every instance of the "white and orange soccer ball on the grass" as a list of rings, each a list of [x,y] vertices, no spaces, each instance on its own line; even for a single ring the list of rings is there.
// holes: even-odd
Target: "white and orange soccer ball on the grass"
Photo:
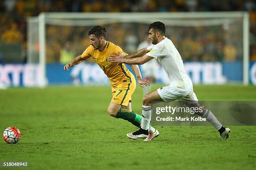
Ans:
[[[20,137],[20,130],[15,127],[9,127],[5,129],[3,133],[3,138],[6,143],[18,143]]]

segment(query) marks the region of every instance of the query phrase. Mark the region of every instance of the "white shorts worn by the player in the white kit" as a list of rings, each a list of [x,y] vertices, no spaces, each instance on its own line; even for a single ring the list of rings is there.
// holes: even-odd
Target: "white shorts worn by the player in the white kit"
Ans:
[[[189,90],[185,90],[183,88],[169,85],[157,89],[157,92],[164,102],[179,100],[183,104],[186,102],[190,104],[198,103],[197,96],[195,95],[195,92],[193,92],[193,87],[191,87]]]

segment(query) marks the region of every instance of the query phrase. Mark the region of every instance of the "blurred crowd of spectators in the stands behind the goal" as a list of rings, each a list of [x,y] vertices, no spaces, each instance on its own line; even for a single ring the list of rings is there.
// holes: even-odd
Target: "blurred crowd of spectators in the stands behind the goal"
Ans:
[[[256,2],[254,0],[0,0],[0,62],[3,44],[19,43],[24,51],[27,49],[27,25],[29,16],[37,16],[41,12],[189,12],[189,11],[248,11],[250,14],[250,57],[256,60]],[[145,25],[147,28],[147,25]],[[128,52],[136,50],[143,41],[144,35],[136,35],[136,30],[125,28],[113,32],[108,28],[108,40],[123,36],[125,39],[115,39],[116,44]],[[59,26],[60,28],[60,26]],[[62,27],[47,28],[47,62],[67,62],[69,58],[78,55],[89,45],[87,32],[90,27]],[[225,35],[223,29],[212,28],[216,34],[207,34],[193,37],[193,34],[202,32],[204,28],[193,28],[177,37],[176,30],[166,26],[166,35],[177,45],[184,60],[237,60],[241,59],[242,51],[237,49],[240,39]],[[143,28],[145,29],[145,28]],[[240,28],[241,29],[241,28]],[[130,31],[129,31],[130,30]],[[56,32],[61,31],[61,37]],[[145,30],[146,31],[146,30]],[[230,29],[236,34],[236,30]],[[70,36],[72,35],[72,37]],[[198,34],[197,34],[198,35]],[[55,36],[55,37],[54,37]],[[175,37],[176,36],[176,37]],[[81,38],[82,37],[82,38]],[[56,38],[54,40],[54,38]],[[219,39],[230,40],[225,45]],[[52,39],[52,41],[51,41]],[[232,41],[231,41],[232,39]],[[58,40],[58,41],[56,41]],[[1,48],[2,44],[2,48]],[[26,54],[24,52],[23,54]],[[62,56],[62,57],[61,57]],[[26,62],[26,57],[24,57]]]

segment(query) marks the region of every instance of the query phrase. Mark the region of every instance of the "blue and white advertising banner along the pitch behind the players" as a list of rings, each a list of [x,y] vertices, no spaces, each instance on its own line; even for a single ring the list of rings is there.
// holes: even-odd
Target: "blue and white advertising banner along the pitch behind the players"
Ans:
[[[46,65],[48,85],[109,85],[108,77],[96,63],[80,63],[64,71],[59,63]],[[127,65],[128,69],[132,69]],[[225,84],[243,82],[242,62],[185,62],[184,68],[194,84]],[[141,71],[142,76],[143,72]],[[0,88],[37,87],[41,83],[41,69],[37,64],[0,65]],[[169,78],[157,65],[158,83],[169,84]],[[256,62],[250,63],[250,83],[256,85]]]

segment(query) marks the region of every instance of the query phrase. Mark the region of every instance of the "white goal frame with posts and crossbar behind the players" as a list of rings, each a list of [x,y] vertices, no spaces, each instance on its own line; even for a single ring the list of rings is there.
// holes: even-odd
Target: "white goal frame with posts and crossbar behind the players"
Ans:
[[[197,27],[228,25],[233,20],[241,20],[241,53],[243,62],[243,84],[249,83],[249,15],[247,12],[182,12],[182,13],[41,13],[38,17],[28,18],[28,62],[35,61],[33,55],[33,29],[38,29],[39,57],[42,85],[46,85],[46,25],[95,26],[111,23],[150,24],[161,21],[165,25]],[[38,27],[37,25],[38,24]],[[145,28],[146,31],[147,28]],[[34,31],[35,32],[35,31]],[[172,40],[172,38],[170,38]],[[35,40],[34,40],[35,41]],[[181,54],[182,55],[182,54]]]

